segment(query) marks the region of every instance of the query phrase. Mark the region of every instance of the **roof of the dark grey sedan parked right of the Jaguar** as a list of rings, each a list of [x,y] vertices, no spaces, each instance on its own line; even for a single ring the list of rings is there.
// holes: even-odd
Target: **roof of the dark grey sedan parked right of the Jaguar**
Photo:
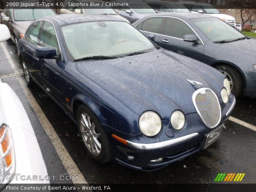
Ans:
[[[201,14],[201,13],[177,13],[177,12],[167,12],[167,13],[156,13],[156,14],[151,14],[146,17],[151,17],[151,16],[173,16],[181,19],[196,19],[196,18],[216,18],[207,14]]]

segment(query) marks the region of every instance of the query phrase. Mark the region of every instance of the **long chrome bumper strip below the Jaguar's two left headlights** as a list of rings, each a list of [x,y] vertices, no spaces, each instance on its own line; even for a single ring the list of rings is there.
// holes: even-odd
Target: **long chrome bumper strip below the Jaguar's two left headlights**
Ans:
[[[182,136],[182,137],[178,137],[178,138],[175,138],[175,139],[171,139],[171,140],[163,141],[163,142],[158,142],[158,143],[142,144],[142,143],[134,143],[134,142],[127,141],[127,144],[131,147],[134,147],[134,148],[140,149],[140,150],[152,150],[152,149],[170,147],[174,144],[184,142],[186,140],[194,138],[195,136],[198,136],[198,133],[192,133],[192,134],[189,134],[189,135],[186,135],[186,136]]]

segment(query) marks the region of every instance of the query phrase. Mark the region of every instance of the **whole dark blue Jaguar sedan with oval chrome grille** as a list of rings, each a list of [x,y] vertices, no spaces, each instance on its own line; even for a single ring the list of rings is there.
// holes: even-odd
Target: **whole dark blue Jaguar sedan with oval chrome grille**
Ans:
[[[220,137],[236,102],[223,74],[111,16],[36,20],[19,49],[28,85],[70,116],[99,163],[155,170],[190,156]]]

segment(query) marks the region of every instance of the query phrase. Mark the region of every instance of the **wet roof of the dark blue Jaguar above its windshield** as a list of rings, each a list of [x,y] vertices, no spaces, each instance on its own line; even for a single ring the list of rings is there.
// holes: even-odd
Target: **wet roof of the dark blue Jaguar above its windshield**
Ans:
[[[101,14],[60,14],[54,15],[49,17],[43,17],[42,20],[52,19],[54,20],[59,26],[75,24],[75,23],[83,23],[83,22],[94,22],[94,21],[121,21],[125,22],[122,19],[108,16],[108,15],[101,15]]]

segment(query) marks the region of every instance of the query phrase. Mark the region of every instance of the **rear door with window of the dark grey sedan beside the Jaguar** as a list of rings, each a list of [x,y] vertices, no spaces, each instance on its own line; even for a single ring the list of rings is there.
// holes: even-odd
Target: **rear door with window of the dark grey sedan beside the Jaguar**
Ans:
[[[160,45],[159,37],[164,24],[164,17],[150,17],[142,21],[136,26],[146,37],[150,34],[154,34],[154,42]]]

